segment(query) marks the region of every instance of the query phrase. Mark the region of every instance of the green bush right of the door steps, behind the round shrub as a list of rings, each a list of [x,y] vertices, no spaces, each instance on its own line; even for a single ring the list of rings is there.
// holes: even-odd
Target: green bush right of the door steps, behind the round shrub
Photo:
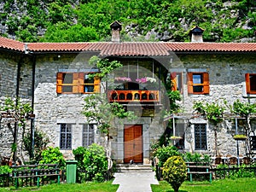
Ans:
[[[163,166],[164,163],[166,162],[166,160],[169,157],[172,157],[173,155],[181,155],[177,148],[174,146],[167,146],[167,147],[162,147],[162,148],[158,148],[155,152],[154,152],[154,156],[156,156],[159,159],[159,166]]]

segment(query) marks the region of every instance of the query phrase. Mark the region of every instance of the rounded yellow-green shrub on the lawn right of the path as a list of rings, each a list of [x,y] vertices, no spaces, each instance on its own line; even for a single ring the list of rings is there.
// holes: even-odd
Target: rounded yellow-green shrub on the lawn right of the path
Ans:
[[[187,178],[187,166],[181,156],[172,156],[164,164],[164,179],[172,185],[175,192]]]

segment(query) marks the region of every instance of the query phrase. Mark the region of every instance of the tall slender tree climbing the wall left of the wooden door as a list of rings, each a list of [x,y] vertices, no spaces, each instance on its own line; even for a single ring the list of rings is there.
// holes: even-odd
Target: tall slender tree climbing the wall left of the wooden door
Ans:
[[[94,56],[90,59],[90,65],[99,69],[99,73],[91,74],[90,78],[101,78],[102,82],[108,81],[108,73],[114,68],[122,67],[118,61],[108,61],[108,59],[100,60]],[[118,102],[108,102],[107,88],[103,86],[103,93],[92,94],[84,98],[84,116],[91,123],[96,123],[97,128],[104,134],[106,142],[106,154],[108,158],[108,177],[111,174],[113,161],[111,159],[111,141],[109,132],[114,127],[114,119],[135,119],[136,116],[131,111],[120,105]]]

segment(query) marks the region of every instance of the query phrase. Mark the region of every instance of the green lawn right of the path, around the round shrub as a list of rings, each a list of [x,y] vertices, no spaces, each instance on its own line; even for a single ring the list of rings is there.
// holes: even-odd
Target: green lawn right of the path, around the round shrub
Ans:
[[[180,192],[254,192],[256,191],[256,177],[221,179],[209,182],[184,182],[179,188]],[[166,181],[160,181],[160,185],[151,185],[153,192],[173,192],[171,185]]]

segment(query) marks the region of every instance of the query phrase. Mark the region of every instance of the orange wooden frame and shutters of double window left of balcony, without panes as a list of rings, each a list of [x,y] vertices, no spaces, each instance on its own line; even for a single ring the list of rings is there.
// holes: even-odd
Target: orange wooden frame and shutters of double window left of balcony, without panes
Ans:
[[[64,84],[64,76],[65,74],[73,74],[73,82],[72,84]],[[74,93],[80,93],[80,94],[93,94],[93,93],[99,93],[101,91],[101,80],[99,77],[94,77],[93,83],[85,83],[85,77],[86,75],[92,74],[90,73],[73,73],[73,72],[58,72],[56,75],[56,92],[57,94],[74,94]],[[86,92],[85,86],[94,86],[93,92]],[[63,91],[63,86],[72,86],[72,91]]]

